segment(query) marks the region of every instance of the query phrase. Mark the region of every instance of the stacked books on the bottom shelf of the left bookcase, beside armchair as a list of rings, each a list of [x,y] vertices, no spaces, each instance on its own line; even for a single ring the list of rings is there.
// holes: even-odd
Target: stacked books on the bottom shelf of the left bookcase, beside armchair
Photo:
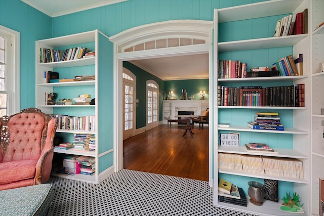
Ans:
[[[78,156],[78,155],[64,155],[62,166],[56,172],[65,175],[94,175],[96,172],[95,157]]]

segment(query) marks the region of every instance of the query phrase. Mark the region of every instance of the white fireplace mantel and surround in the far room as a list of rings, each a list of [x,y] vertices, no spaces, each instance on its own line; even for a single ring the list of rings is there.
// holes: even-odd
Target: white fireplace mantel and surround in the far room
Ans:
[[[208,100],[164,100],[163,123],[167,124],[168,119],[175,119],[178,111],[193,111],[194,115],[201,115],[208,107]]]

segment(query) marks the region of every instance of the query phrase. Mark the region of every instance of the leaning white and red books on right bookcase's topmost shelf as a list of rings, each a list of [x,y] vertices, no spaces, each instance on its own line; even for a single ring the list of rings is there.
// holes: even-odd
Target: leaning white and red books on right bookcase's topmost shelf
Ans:
[[[308,9],[297,14],[285,16],[276,22],[274,37],[294,34],[307,34]]]

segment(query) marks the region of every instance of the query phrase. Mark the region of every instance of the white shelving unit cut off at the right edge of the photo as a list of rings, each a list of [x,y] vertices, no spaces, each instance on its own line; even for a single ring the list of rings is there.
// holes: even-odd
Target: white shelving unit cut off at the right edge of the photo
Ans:
[[[311,74],[311,213],[319,212],[319,179],[324,179],[324,1],[310,1],[310,74]]]

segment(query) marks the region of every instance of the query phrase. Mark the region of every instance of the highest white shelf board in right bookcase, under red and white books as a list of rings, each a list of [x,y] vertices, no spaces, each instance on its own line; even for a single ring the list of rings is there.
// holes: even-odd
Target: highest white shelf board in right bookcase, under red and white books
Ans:
[[[265,37],[248,40],[235,40],[218,43],[218,52],[256,50],[266,48],[291,47],[306,38],[308,34],[296,34],[280,37]]]

